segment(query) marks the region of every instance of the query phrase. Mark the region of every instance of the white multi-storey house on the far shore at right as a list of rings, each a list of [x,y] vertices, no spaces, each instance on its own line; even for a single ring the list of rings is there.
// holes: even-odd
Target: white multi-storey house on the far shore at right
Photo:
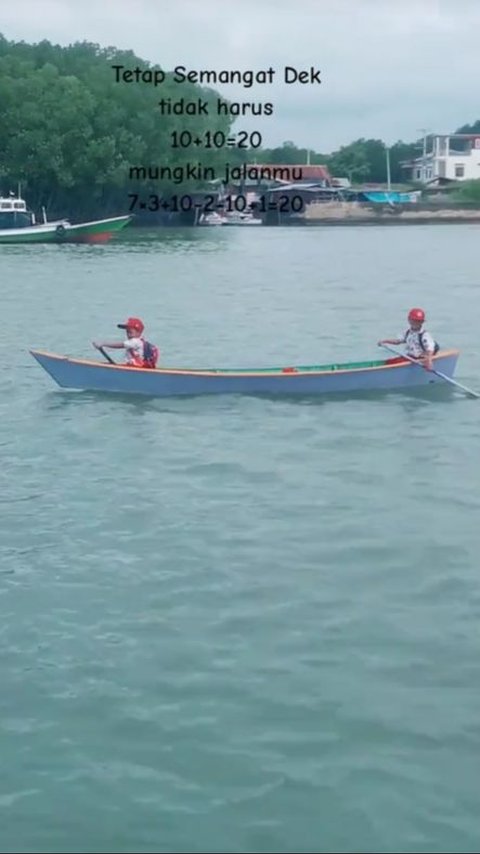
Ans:
[[[438,178],[470,181],[480,178],[480,133],[435,134],[425,137],[422,157],[402,164],[411,181],[428,184]]]

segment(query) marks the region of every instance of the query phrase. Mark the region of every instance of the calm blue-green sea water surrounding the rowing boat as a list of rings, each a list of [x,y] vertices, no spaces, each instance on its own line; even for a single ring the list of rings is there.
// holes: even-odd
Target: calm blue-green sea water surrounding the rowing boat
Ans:
[[[114,398],[28,353],[135,314],[169,365],[375,358],[420,305],[480,389],[479,246],[1,247],[1,851],[479,850],[480,401]]]

